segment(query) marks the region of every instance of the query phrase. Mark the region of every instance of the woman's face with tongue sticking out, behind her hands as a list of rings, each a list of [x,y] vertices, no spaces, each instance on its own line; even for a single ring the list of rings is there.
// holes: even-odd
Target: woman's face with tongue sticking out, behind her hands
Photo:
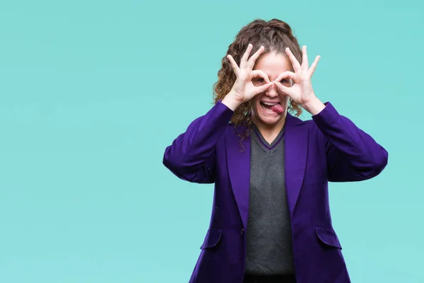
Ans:
[[[290,59],[285,54],[266,53],[257,60],[253,69],[260,69],[268,76],[270,81],[285,71],[293,71]],[[261,77],[254,78],[252,83],[255,86],[264,84],[265,81]],[[289,79],[281,81],[284,86],[290,86]],[[278,114],[270,109],[270,104],[279,103],[283,108],[283,112]],[[272,85],[264,93],[259,93],[252,98],[252,120],[256,125],[264,125],[266,127],[274,125],[283,125],[287,115],[288,96],[278,94],[275,85]]]

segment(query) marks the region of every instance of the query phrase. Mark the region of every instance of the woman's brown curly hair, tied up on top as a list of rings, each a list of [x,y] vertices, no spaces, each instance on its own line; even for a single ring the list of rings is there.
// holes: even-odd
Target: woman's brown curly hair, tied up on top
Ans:
[[[302,51],[300,50],[300,45],[293,35],[293,31],[288,23],[276,18],[268,22],[261,19],[254,20],[240,30],[234,42],[228,47],[227,54],[225,54],[222,59],[222,67],[218,71],[218,81],[213,84],[214,103],[217,103],[218,100],[223,100],[235,83],[236,76],[227,55],[230,54],[240,66],[240,59],[243,54],[245,54],[249,43],[253,45],[252,52],[250,52],[251,56],[261,45],[265,47],[264,52],[261,53],[261,56],[259,56],[256,62],[266,53],[276,52],[285,54],[285,48],[289,47],[296,59],[298,59],[298,62],[302,64]],[[252,125],[251,109],[252,103],[247,101],[235,110],[231,119],[235,127],[239,125],[246,126],[245,132],[239,134],[242,139],[247,137],[250,126]],[[302,109],[300,105],[290,99],[288,112],[293,113],[295,116],[299,116],[302,113]]]

